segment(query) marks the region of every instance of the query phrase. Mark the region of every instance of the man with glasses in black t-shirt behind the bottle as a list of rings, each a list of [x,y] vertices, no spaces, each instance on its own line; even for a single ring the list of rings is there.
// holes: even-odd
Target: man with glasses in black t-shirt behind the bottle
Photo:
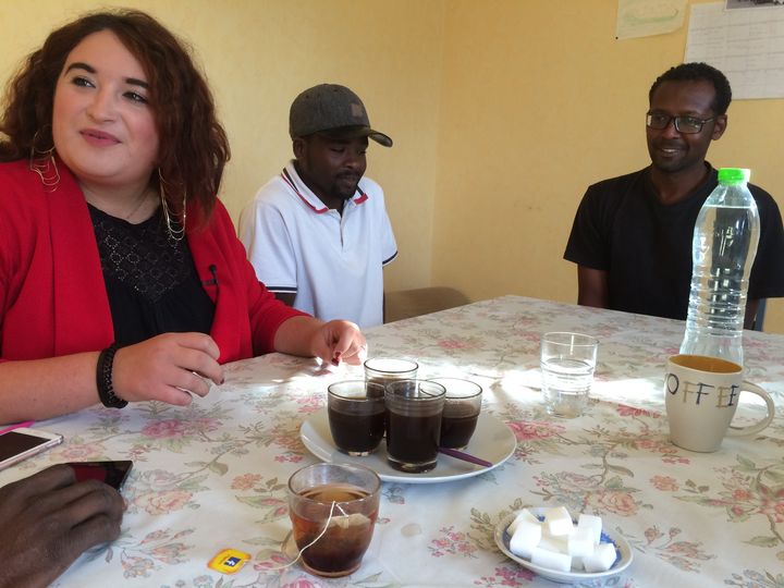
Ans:
[[[685,319],[691,281],[691,236],[716,186],[706,161],[727,125],[730,83],[705,63],[659,76],[646,117],[651,164],[588,188],[564,258],[577,264],[578,303]],[[759,301],[784,296],[784,228],[775,200],[749,184],[760,241],[749,278],[746,327]]]

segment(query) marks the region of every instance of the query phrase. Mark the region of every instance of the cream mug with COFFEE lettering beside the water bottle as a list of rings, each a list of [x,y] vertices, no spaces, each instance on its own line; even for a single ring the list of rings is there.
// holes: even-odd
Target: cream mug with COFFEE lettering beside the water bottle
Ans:
[[[743,378],[732,362],[701,355],[673,355],[667,359],[664,395],[670,440],[689,451],[712,452],[724,436],[754,434],[771,424],[775,407],[759,385]],[[740,392],[751,392],[768,405],[765,418],[748,427],[733,427]]]

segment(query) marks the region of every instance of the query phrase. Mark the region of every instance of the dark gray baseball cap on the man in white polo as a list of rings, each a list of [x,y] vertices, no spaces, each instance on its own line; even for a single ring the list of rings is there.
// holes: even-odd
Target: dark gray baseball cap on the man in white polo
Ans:
[[[369,137],[392,147],[392,139],[370,128],[370,120],[359,97],[345,86],[319,84],[297,96],[289,111],[292,138],[320,133],[341,138]]]

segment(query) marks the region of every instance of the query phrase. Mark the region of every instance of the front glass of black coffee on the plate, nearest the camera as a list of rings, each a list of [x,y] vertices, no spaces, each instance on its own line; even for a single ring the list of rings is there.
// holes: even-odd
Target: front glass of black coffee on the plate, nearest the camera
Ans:
[[[387,461],[418,474],[436,467],[446,390],[428,380],[387,384]]]

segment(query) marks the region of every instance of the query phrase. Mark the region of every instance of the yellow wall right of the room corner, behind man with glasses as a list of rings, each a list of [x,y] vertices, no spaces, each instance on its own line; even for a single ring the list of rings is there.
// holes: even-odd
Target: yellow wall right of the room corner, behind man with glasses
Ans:
[[[616,40],[611,0],[450,0],[439,125],[432,281],[471,298],[574,302],[562,259],[586,187],[650,160],[656,77],[683,61],[686,27]],[[747,167],[784,208],[782,100],[730,107],[716,167]],[[767,330],[784,332],[784,302]]]

